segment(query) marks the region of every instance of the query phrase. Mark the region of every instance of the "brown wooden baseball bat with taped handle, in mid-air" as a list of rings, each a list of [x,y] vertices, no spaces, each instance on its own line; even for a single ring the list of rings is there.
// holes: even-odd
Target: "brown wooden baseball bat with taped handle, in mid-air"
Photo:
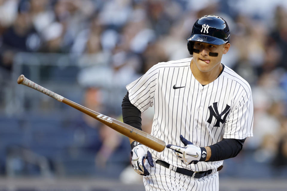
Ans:
[[[164,150],[165,148],[165,142],[162,141],[159,138],[156,138],[152,135],[149,135],[148,133],[145,133],[141,130],[136,129],[135,127],[132,127],[128,124],[125,124],[123,122],[117,121],[116,119],[110,118],[106,115],[97,113],[93,110],[90,110],[80,104],[77,104],[73,101],[70,101],[60,95],[58,95],[57,93],[54,93],[36,83],[34,83],[33,81],[25,78],[24,75],[20,75],[18,80],[17,80],[18,84],[23,84],[25,86],[28,86],[30,88],[33,88],[35,90],[38,90],[39,92],[42,92],[54,99],[57,99],[60,102],[63,102],[71,107],[74,107],[75,109],[97,119],[98,121],[100,121],[101,123],[111,127],[112,129],[116,130],[117,132],[132,138],[135,141],[140,142],[143,145],[146,145],[147,147],[156,150],[158,152],[161,152]]]

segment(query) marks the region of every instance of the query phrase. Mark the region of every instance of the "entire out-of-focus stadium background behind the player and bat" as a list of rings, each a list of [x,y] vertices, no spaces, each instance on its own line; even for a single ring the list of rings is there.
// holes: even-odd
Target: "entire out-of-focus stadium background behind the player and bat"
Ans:
[[[0,190],[144,190],[128,138],[16,83],[20,74],[121,120],[125,86],[190,57],[197,18],[222,16],[222,63],[245,78],[254,137],[225,160],[219,190],[286,190],[287,1],[0,0]],[[142,114],[150,132],[153,108]]]

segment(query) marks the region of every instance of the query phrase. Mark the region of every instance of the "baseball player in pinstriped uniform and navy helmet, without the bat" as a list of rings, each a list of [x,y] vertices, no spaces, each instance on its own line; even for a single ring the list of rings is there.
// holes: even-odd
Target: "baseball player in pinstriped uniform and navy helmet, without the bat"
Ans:
[[[126,86],[123,121],[141,129],[141,112],[154,105],[151,134],[167,143],[156,152],[130,140],[146,190],[219,190],[223,160],[253,136],[251,88],[221,63],[229,40],[224,19],[203,16],[187,38],[192,58],[158,63]]]

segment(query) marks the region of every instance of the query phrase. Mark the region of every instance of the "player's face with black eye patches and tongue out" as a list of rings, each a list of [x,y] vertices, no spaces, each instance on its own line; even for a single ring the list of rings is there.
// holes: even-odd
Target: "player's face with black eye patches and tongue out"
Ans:
[[[193,52],[193,61],[201,72],[210,72],[220,64],[222,55],[228,52],[229,47],[229,43],[214,45],[194,42],[193,48],[199,50],[199,53]],[[209,53],[218,53],[218,56],[210,56]]]

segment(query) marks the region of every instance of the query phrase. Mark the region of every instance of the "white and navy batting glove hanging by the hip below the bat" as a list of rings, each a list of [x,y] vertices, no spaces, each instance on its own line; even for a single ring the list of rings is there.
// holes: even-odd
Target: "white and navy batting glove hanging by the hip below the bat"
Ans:
[[[149,175],[149,171],[147,171],[146,167],[144,166],[144,159],[146,159],[150,166],[154,167],[152,154],[147,150],[147,147],[143,144],[133,141],[131,144],[132,147],[132,167],[134,168],[135,172],[139,175]]]

